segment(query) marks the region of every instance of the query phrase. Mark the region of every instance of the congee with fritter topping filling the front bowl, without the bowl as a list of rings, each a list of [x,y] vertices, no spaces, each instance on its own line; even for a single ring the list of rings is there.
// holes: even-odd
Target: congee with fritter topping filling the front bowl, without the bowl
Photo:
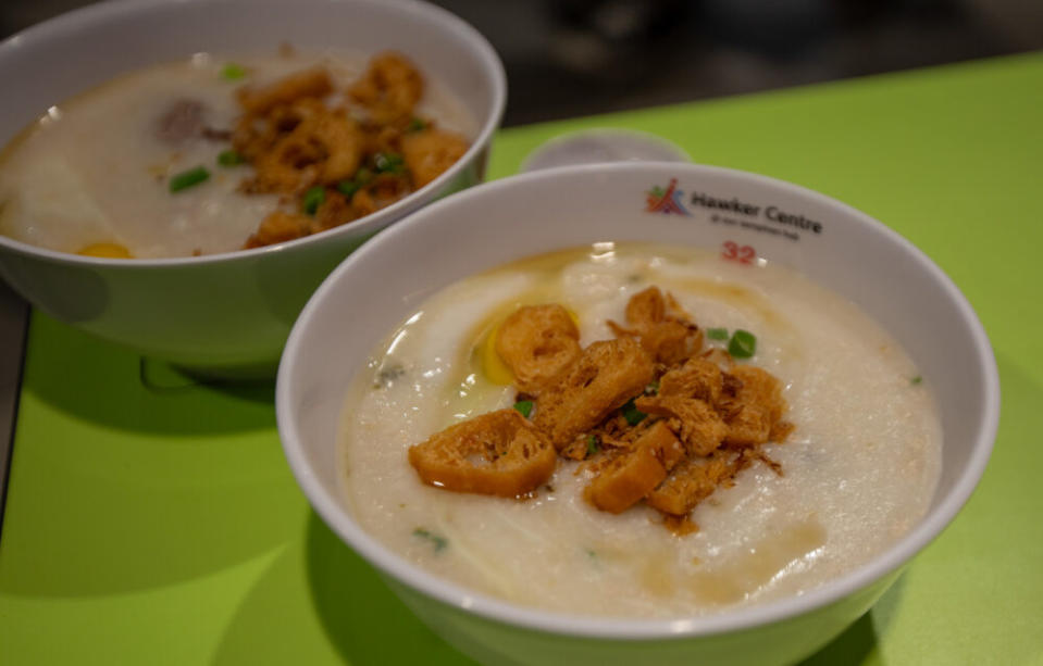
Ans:
[[[770,261],[598,243],[454,284],[346,399],[343,493],[408,561],[520,604],[693,616],[800,594],[926,513],[930,390]]]

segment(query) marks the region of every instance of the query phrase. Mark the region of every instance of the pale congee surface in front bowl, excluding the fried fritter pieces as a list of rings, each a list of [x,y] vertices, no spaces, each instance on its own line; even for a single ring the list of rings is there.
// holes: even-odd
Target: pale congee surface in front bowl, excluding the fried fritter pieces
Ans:
[[[495,342],[508,317],[522,306],[560,304],[579,348],[591,350],[628,338],[631,304],[653,286],[668,318],[672,309],[697,324],[696,355],[724,368],[725,392],[729,374],[747,385],[758,373],[778,379],[785,411],[770,441],[750,448],[723,435],[709,454],[746,455],[733,478],[681,517],[660,511],[655,492],[625,505],[597,501],[596,461],[632,449],[612,449],[607,430],[589,428],[597,436],[584,431],[573,442],[587,442],[586,451],[555,443],[549,476],[522,498],[422,480],[418,445],[439,443],[459,432],[457,424],[488,413],[511,420],[520,410],[530,414],[516,432],[541,425],[541,401],[552,390],[519,394],[517,377],[507,384],[514,366],[505,368]],[[557,378],[569,370],[561,372]],[[667,392],[659,377],[638,389],[637,405],[650,409],[648,398]],[[608,418],[632,420],[634,404]],[[670,426],[688,449],[682,455],[698,457],[684,423],[668,416],[643,418]],[[699,615],[799,594],[866,563],[927,512],[942,445],[930,381],[853,304],[771,263],[612,243],[521,261],[433,296],[374,350],[347,397],[342,432],[345,500],[362,527],[402,557],[520,604],[626,617]],[[653,467],[653,460],[668,470],[683,464],[665,451],[648,458]],[[509,455],[475,461],[471,451],[461,464],[495,466]]]

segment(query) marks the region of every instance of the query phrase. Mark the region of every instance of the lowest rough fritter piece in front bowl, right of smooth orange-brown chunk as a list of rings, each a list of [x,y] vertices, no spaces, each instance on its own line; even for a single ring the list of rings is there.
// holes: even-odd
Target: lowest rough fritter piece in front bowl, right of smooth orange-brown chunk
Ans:
[[[645,502],[670,516],[686,516],[719,487],[733,483],[749,465],[747,458],[731,451],[715,451],[708,456],[687,457],[678,463]]]

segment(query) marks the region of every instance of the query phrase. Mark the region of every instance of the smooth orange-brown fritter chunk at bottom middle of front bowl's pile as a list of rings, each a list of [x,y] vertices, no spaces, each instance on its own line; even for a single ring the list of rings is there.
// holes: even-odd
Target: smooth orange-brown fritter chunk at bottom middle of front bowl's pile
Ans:
[[[598,469],[584,497],[601,511],[619,514],[651,492],[685,455],[665,422],[648,427],[630,449],[620,449]]]

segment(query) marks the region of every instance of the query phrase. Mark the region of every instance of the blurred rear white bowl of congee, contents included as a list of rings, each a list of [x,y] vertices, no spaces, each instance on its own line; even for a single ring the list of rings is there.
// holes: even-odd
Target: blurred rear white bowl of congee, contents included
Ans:
[[[0,275],[58,319],[274,374],[356,247],[479,183],[488,42],[403,0],[103,2],[0,43]]]

